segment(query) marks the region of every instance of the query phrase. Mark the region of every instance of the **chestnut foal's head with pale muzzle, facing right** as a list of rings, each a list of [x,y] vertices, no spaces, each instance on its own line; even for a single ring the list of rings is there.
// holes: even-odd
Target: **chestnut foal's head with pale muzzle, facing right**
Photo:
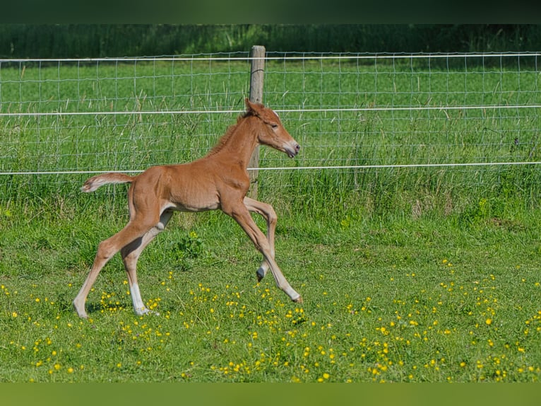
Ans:
[[[291,137],[287,129],[284,128],[280,117],[261,103],[251,103],[246,98],[246,115],[253,115],[260,120],[257,140],[259,144],[272,146],[278,151],[287,153],[287,156],[293,158],[301,148],[297,141]]]

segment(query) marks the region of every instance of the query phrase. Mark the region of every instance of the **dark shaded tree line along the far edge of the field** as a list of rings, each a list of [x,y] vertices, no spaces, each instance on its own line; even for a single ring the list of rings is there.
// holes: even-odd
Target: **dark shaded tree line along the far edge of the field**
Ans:
[[[269,52],[537,52],[541,25],[2,24],[2,58]]]

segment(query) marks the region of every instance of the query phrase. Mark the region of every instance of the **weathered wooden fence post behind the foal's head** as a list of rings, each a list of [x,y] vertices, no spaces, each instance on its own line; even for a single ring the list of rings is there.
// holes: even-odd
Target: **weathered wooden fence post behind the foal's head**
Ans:
[[[254,45],[251,47],[251,72],[250,72],[250,101],[261,103],[263,101],[263,74],[265,73],[265,47]],[[248,164],[249,168],[259,167],[259,146],[256,147]],[[258,170],[250,170],[249,196],[257,199]]]

